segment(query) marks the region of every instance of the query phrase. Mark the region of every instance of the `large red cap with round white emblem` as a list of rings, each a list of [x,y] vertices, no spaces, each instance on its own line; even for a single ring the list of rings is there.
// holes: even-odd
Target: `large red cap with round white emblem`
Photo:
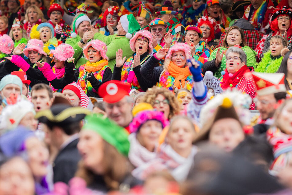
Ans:
[[[103,83],[99,89],[98,94],[103,98],[103,101],[107,103],[116,103],[120,101],[126,95],[129,95],[130,84],[120,82],[117,80],[111,80]]]

